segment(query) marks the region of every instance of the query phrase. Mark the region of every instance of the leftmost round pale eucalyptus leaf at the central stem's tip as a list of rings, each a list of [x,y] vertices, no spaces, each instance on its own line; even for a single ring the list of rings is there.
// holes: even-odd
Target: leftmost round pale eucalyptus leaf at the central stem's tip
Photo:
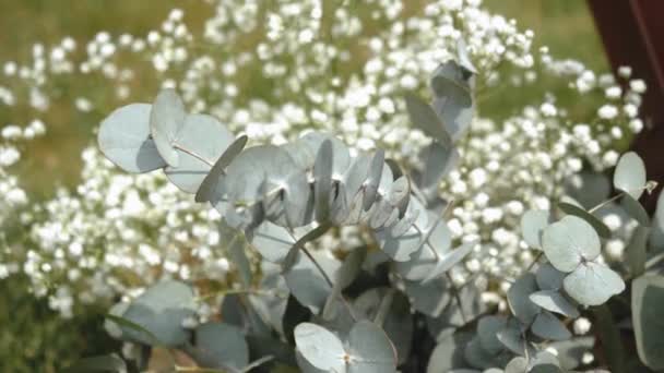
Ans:
[[[127,172],[150,172],[166,166],[150,137],[151,109],[149,104],[123,106],[99,127],[97,142],[102,153]]]

